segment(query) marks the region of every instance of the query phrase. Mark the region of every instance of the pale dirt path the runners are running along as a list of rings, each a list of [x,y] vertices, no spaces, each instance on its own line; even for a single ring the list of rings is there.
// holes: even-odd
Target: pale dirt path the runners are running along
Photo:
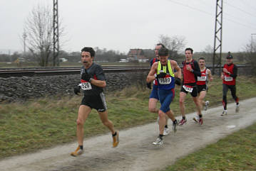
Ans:
[[[1,160],[0,170],[160,170],[177,158],[255,123],[256,98],[241,101],[240,104],[238,114],[235,114],[235,104],[228,104],[227,116],[220,116],[222,106],[203,111],[203,126],[194,123],[192,118],[195,114],[189,114],[187,124],[178,126],[176,133],[166,136],[162,147],[152,145],[158,136],[155,122],[121,131],[118,148],[111,148],[110,134],[97,136],[85,140],[86,151],[78,158],[69,155],[77,146],[72,143]]]

